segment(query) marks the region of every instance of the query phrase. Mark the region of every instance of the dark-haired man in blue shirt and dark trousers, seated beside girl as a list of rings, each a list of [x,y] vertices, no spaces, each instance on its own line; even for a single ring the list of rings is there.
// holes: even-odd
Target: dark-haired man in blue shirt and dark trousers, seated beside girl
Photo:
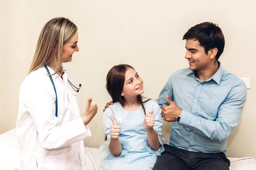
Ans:
[[[153,170],[229,170],[227,137],[239,122],[246,85],[218,62],[225,45],[218,25],[193,26],[183,40],[189,68],[175,71],[156,100],[163,119],[174,123]]]

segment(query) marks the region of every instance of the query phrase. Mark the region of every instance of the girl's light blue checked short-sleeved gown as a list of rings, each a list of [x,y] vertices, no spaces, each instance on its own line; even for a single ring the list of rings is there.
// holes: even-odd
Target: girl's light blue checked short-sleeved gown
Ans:
[[[143,98],[145,101],[146,98]],[[161,108],[154,100],[143,103],[146,113],[153,110],[154,131],[158,134],[161,147],[153,150],[148,145],[147,134],[144,125],[145,113],[142,106],[136,111],[125,111],[119,102],[115,102],[106,109],[103,116],[104,132],[108,140],[101,144],[99,152],[102,155],[101,170],[151,170],[163,151],[163,139]],[[122,152],[119,156],[113,156],[108,148],[110,142],[110,130],[113,116],[121,128],[119,141],[122,145]]]

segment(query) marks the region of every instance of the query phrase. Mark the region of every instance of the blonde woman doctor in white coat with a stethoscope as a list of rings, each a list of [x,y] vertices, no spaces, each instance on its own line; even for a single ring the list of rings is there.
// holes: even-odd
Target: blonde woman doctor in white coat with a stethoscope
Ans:
[[[24,170],[85,170],[83,139],[98,107],[89,98],[80,118],[76,87],[62,66],[79,51],[77,42],[76,25],[63,17],[41,31],[20,86],[16,133]]]

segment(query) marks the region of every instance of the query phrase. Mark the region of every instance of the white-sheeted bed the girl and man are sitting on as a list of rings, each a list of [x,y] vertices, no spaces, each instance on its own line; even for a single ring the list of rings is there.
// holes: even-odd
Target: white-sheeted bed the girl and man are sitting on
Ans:
[[[0,135],[0,170],[19,170],[20,154],[17,150],[16,130],[12,129]],[[87,170],[100,170],[101,156],[99,148],[84,147]],[[256,170],[256,161],[251,157],[228,158],[230,170]]]

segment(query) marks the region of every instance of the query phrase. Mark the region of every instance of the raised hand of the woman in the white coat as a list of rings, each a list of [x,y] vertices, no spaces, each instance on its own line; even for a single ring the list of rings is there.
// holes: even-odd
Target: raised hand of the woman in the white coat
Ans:
[[[83,116],[82,119],[83,119],[84,125],[87,125],[93,119],[97,111],[98,111],[98,106],[96,102],[93,102],[92,98],[89,97],[89,99],[85,104],[84,111],[82,113],[82,116]]]

